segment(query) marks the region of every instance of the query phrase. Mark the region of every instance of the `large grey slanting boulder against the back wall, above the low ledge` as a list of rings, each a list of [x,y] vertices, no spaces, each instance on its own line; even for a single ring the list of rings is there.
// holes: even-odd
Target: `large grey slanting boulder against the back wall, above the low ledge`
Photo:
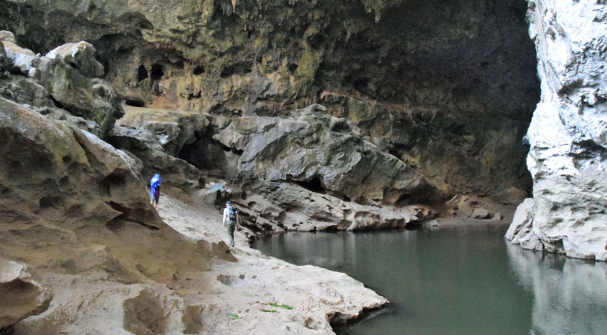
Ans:
[[[290,118],[232,118],[213,138],[240,153],[234,166],[243,180],[299,181],[363,203],[439,200],[441,192],[421,174],[323,109],[312,105]]]

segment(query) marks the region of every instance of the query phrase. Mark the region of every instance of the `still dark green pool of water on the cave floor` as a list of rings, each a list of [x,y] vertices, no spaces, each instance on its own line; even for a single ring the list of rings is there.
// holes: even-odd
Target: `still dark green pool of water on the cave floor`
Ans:
[[[344,334],[607,334],[607,266],[526,251],[507,226],[288,233],[254,247],[345,272],[392,305]]]

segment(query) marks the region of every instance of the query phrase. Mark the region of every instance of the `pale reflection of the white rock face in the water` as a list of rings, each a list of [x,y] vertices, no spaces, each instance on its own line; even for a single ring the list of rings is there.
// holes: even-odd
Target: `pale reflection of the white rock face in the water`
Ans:
[[[536,335],[607,334],[607,265],[507,246],[521,285],[534,296]]]

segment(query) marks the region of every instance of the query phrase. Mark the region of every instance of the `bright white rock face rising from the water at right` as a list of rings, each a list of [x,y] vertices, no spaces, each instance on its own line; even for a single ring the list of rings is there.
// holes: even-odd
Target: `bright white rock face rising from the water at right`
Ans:
[[[535,207],[532,225],[512,242],[605,260],[607,6],[590,0],[528,2],[541,79],[541,101],[527,132]]]

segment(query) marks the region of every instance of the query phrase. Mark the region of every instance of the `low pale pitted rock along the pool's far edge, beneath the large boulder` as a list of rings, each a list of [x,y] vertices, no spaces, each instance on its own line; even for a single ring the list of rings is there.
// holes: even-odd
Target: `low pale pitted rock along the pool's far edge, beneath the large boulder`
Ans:
[[[436,216],[426,206],[361,205],[280,181],[260,180],[245,191],[236,206],[254,231],[402,228]]]

